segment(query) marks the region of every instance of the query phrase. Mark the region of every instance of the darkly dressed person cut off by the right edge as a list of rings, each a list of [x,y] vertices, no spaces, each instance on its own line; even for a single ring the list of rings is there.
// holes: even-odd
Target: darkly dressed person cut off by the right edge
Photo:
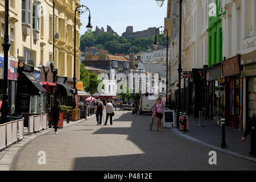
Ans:
[[[248,123],[248,125],[246,127],[245,134],[242,137],[242,141],[244,141],[245,138],[247,137],[247,135],[251,132],[251,151],[250,151],[250,155],[254,155],[254,157],[256,158],[255,122],[256,122],[256,116],[255,116],[255,113],[253,113],[253,115],[251,115],[250,122]]]

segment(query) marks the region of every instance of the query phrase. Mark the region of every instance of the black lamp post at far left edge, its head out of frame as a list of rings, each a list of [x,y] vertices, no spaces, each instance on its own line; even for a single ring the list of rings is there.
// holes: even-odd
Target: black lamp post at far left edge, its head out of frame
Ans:
[[[11,44],[9,43],[9,0],[5,0],[5,43],[2,44],[4,51],[3,59],[3,102],[1,106],[1,123],[11,120],[9,100],[8,100],[8,52]]]

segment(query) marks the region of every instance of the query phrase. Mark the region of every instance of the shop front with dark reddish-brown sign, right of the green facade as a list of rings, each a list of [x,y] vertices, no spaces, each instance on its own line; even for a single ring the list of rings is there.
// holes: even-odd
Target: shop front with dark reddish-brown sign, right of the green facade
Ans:
[[[242,130],[242,78],[240,55],[221,62],[225,78],[226,125]]]

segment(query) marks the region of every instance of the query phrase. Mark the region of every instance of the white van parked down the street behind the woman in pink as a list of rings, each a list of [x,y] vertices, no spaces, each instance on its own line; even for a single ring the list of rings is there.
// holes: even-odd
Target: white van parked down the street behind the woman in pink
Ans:
[[[156,98],[158,98],[158,95],[142,96],[141,101],[139,102],[139,114],[143,114],[143,113],[148,114],[148,111],[150,111],[150,108],[152,107],[152,105],[155,104]]]

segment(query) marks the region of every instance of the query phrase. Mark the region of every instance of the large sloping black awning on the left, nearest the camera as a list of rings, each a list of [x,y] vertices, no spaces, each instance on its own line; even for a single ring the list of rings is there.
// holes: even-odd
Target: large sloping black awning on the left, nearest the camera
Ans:
[[[32,96],[37,96],[40,94],[39,92],[46,92],[46,89],[36,80],[34,75],[28,72],[22,73],[22,77],[18,82],[20,93],[28,93]]]

